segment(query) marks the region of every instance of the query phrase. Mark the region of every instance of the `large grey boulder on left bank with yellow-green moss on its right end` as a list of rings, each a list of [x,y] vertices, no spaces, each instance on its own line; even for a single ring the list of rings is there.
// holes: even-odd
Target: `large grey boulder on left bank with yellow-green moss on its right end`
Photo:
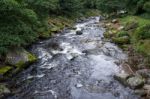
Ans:
[[[25,49],[15,49],[6,55],[6,63],[17,68],[22,68],[37,60],[37,57]]]

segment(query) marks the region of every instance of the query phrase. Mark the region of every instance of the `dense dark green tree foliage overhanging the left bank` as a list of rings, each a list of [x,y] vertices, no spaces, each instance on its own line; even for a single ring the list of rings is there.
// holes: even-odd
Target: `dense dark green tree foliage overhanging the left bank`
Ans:
[[[54,0],[55,1],[55,0]],[[25,46],[37,37],[38,28],[45,25],[52,0],[0,1],[0,54],[12,47]],[[52,9],[50,9],[52,8]]]

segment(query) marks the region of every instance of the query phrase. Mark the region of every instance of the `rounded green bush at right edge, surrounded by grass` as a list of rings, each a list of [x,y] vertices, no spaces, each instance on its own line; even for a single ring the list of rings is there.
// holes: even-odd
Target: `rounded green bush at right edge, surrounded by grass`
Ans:
[[[149,39],[150,38],[150,24],[139,27],[136,31],[137,39]]]

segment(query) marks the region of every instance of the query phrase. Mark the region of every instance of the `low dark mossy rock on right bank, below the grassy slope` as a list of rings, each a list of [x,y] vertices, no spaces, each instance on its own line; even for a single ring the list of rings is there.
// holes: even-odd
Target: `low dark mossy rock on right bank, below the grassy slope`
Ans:
[[[112,41],[116,44],[129,44],[130,43],[130,38],[128,36],[113,37]]]

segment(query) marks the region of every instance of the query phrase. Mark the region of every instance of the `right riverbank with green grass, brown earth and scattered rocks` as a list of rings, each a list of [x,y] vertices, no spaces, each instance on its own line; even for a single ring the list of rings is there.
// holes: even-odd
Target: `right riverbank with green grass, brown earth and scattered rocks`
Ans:
[[[128,83],[130,77],[137,77],[137,79],[134,79],[133,83],[137,84],[139,82],[144,82],[144,84],[139,88],[133,89],[144,97],[144,99],[149,99],[150,20],[141,16],[125,16],[104,21],[103,26],[107,29],[104,34],[105,37],[111,40],[111,42],[116,43],[128,54],[127,66],[130,68],[131,74],[117,75],[117,80],[124,84]],[[127,84],[126,86],[131,87]]]

